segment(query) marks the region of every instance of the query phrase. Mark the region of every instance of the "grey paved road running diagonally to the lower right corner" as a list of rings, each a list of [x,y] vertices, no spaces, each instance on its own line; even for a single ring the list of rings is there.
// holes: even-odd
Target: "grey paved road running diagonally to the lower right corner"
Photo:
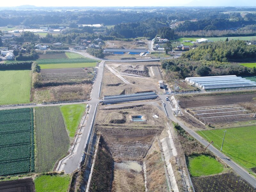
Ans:
[[[201,136],[199,136],[196,132],[189,129],[186,125],[184,125],[181,121],[179,121],[172,112],[172,108],[169,101],[165,100],[166,95],[159,95],[159,97],[164,101],[165,108],[167,111],[167,114],[169,118],[180,124],[180,126],[188,132],[191,136],[193,136],[196,140],[198,140],[200,143],[202,143],[205,147],[209,145],[208,141],[204,140]],[[222,161],[224,161],[228,166],[230,166],[234,171],[239,174],[244,180],[246,180],[248,183],[250,183],[252,186],[255,186],[256,179],[254,176],[250,175],[244,168],[233,162],[231,159],[229,159],[227,156],[225,156],[223,153],[221,153],[218,149],[214,148],[212,146],[212,152],[218,156]]]

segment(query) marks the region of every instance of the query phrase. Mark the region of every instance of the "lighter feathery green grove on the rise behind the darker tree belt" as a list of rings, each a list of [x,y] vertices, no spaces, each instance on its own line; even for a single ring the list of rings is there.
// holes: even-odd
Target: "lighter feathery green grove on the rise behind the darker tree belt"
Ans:
[[[228,60],[248,60],[256,58],[256,46],[241,40],[220,41],[201,44],[183,55],[192,60],[225,62]]]

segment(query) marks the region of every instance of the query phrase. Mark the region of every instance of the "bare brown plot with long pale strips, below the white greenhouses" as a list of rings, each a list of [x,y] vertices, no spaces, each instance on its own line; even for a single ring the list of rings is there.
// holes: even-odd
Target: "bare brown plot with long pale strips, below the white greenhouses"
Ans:
[[[255,113],[237,104],[185,108],[185,111],[203,124],[255,118]]]

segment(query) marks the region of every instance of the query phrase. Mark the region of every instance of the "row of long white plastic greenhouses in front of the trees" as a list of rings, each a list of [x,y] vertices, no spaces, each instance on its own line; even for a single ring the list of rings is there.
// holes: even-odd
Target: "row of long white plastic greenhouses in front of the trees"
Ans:
[[[229,89],[256,87],[256,82],[236,75],[209,76],[209,77],[187,77],[185,79],[191,84],[203,89]]]

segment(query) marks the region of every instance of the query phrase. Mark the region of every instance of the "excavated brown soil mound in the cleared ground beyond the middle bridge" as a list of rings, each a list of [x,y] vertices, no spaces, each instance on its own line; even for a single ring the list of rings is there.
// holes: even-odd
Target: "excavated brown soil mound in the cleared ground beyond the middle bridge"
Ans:
[[[121,73],[149,77],[148,68],[144,65],[119,65],[116,69]]]

